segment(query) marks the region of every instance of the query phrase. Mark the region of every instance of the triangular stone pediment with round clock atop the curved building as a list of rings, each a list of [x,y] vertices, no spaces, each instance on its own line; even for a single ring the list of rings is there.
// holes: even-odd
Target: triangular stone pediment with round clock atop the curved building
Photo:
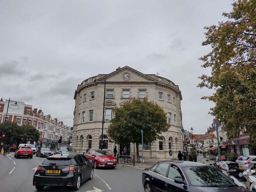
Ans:
[[[99,80],[106,81],[124,81],[124,82],[157,82],[154,78],[147,76],[131,67],[125,66],[118,68],[116,71],[109,73],[105,76],[102,76]]]

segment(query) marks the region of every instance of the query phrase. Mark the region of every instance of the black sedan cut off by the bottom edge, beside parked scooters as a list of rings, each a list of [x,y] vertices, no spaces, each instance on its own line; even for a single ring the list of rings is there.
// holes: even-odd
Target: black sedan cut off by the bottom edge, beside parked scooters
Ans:
[[[215,168],[189,161],[163,161],[142,173],[145,192],[249,192]]]

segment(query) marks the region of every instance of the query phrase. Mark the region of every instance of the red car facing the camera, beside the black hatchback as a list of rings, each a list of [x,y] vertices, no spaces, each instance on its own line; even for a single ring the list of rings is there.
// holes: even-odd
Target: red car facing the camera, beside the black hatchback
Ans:
[[[92,160],[94,168],[110,167],[114,169],[117,165],[116,159],[106,150],[89,150],[85,154],[88,160]]]

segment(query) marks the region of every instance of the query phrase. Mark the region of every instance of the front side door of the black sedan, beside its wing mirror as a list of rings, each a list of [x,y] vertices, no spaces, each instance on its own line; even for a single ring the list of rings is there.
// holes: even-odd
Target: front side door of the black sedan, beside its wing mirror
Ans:
[[[185,183],[185,177],[182,173],[182,171],[180,170],[180,168],[178,166],[176,166],[175,164],[171,164],[169,170],[168,170],[168,174],[167,174],[167,178],[165,179],[164,182],[164,186],[165,186],[165,191],[166,192],[185,192],[187,191],[187,183],[184,184],[180,184],[180,183],[175,183],[174,180],[176,178],[182,178]]]

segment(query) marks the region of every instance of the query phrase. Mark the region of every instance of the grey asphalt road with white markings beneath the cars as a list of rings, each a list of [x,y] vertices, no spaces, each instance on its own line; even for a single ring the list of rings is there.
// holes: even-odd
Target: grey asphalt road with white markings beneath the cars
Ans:
[[[44,157],[32,159],[14,158],[11,153],[6,157],[0,154],[0,191],[1,192],[36,192],[32,185],[34,168],[42,163]],[[87,180],[80,192],[143,192],[142,170],[118,166],[112,169],[96,169],[92,180]],[[96,187],[96,188],[94,188]],[[45,187],[43,191],[73,191],[68,187]]]

